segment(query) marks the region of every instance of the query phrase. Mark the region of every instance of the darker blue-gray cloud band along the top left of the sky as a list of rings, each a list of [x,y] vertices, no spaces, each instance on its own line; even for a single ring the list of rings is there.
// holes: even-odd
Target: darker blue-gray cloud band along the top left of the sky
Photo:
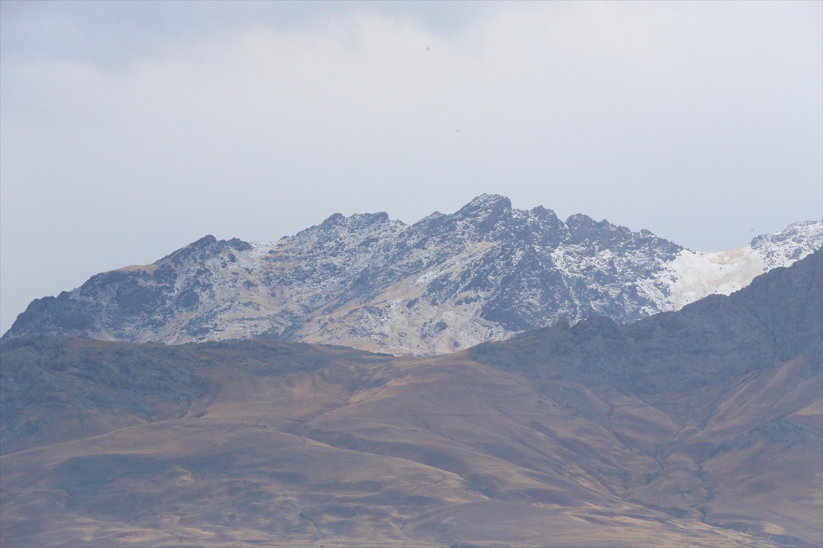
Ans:
[[[2,0],[5,57],[62,58],[122,71],[138,58],[161,58],[181,43],[213,40],[255,28],[305,31],[374,14],[435,35],[466,30],[494,2],[66,2]]]

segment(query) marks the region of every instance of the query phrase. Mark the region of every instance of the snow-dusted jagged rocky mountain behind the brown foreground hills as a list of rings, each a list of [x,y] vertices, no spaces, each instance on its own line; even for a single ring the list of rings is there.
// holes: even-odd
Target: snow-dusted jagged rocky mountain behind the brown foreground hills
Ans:
[[[207,236],[152,265],[31,302],[3,342],[66,334],[128,342],[272,338],[435,355],[601,315],[618,323],[729,294],[823,245],[795,223],[719,253],[648,230],[482,195],[407,225],[334,214],[279,242]]]

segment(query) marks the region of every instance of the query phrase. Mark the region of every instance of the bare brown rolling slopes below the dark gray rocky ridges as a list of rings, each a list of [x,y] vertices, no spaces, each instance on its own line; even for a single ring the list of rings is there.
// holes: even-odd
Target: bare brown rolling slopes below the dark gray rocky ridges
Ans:
[[[2,546],[823,544],[823,380],[802,357],[644,401],[538,392],[471,351],[300,348],[320,365],[203,350],[207,393],[146,398],[148,420],[66,409],[0,457]]]

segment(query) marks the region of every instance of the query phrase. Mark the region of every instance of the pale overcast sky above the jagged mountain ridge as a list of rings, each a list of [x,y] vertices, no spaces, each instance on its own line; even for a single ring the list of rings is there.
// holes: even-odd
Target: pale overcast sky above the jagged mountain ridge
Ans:
[[[823,217],[823,2],[0,1],[0,332],[198,238],[483,192],[719,251]]]

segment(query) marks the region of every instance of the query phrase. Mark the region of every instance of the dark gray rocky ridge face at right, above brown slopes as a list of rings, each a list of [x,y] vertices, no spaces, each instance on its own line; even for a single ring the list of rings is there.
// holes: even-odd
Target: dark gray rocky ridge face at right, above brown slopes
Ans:
[[[821,374],[821,250],[758,277],[744,291],[706,297],[677,312],[631,325],[608,318],[561,322],[472,349],[474,360],[530,377],[538,387],[565,378],[643,395],[689,392],[798,356],[803,379]]]

